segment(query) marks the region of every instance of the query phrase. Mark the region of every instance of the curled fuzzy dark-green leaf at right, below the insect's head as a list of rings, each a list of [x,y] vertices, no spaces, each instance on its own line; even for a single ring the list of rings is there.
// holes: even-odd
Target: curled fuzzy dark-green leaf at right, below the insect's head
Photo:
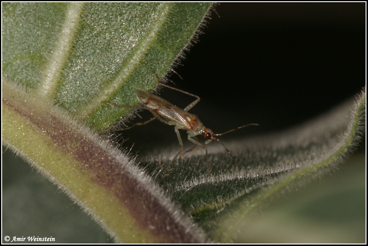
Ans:
[[[273,197],[330,172],[354,152],[365,136],[365,92],[347,118],[350,106],[351,101],[277,135],[228,142],[239,168],[222,146],[210,154],[211,175],[200,165],[206,163],[201,153],[171,165],[165,178],[164,170],[174,152],[161,151],[161,159],[140,165],[210,238],[229,242],[245,219]]]

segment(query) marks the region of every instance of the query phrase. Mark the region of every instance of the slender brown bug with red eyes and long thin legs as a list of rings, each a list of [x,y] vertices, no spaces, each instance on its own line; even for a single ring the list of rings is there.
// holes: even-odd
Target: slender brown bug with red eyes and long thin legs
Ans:
[[[209,175],[211,176],[211,173],[209,171],[208,168],[208,150],[206,145],[208,143],[210,143],[212,140],[216,140],[218,142],[220,142],[222,144],[222,146],[224,147],[224,149],[227,151],[227,153],[229,153],[229,155],[234,159],[236,165],[238,166],[238,162],[236,161],[236,159],[234,158],[234,156],[230,153],[230,151],[227,149],[227,147],[217,138],[217,136],[221,136],[224,135],[226,133],[232,132],[232,131],[236,131],[240,128],[243,128],[245,126],[250,126],[250,125],[258,125],[258,124],[248,124],[248,125],[243,125],[243,126],[239,126],[237,128],[234,128],[230,131],[224,132],[224,133],[217,133],[214,134],[212,129],[210,128],[206,128],[203,123],[199,120],[199,118],[197,117],[197,115],[194,114],[190,114],[188,113],[188,110],[190,110],[192,107],[195,106],[195,104],[197,104],[199,102],[199,100],[201,100],[199,98],[199,96],[193,95],[191,93],[185,92],[183,90],[165,85],[163,83],[160,83],[156,77],[156,75],[153,73],[153,75],[156,78],[156,81],[158,83],[158,85],[173,89],[173,90],[177,90],[179,92],[182,92],[186,95],[189,96],[193,96],[196,97],[197,99],[195,99],[191,104],[189,104],[187,107],[185,107],[184,109],[181,109],[177,106],[175,106],[174,104],[170,103],[169,101],[166,101],[164,99],[162,99],[161,97],[158,97],[156,95],[153,95],[152,93],[146,92],[144,90],[136,90],[135,94],[137,95],[138,100],[142,103],[142,106],[131,106],[131,105],[119,105],[119,104],[112,104],[112,103],[106,103],[106,102],[102,102],[102,103],[106,103],[109,104],[111,106],[116,106],[116,107],[131,107],[131,108],[142,108],[142,109],[146,109],[149,110],[152,114],[153,114],[153,118],[151,118],[148,121],[142,122],[142,123],[137,123],[134,124],[135,125],[145,125],[155,119],[158,119],[159,121],[168,124],[168,125],[175,125],[174,127],[174,131],[176,132],[176,135],[178,137],[179,140],[179,144],[181,146],[181,150],[176,154],[176,156],[173,158],[173,160],[171,160],[169,166],[166,168],[165,172],[164,172],[164,177],[166,176],[166,172],[167,170],[169,170],[171,164],[174,162],[174,160],[180,155],[180,158],[182,156],[184,156],[184,154],[191,152],[191,151],[195,151],[195,150],[199,150],[199,149],[204,149],[206,151],[206,168],[207,171],[209,173]],[[131,126],[131,127],[133,127]],[[125,129],[129,129],[131,127],[125,128]],[[190,140],[192,143],[195,144],[194,147],[192,147],[192,149],[185,151],[184,153],[184,145],[183,145],[183,141],[181,140],[180,137],[180,133],[178,131],[178,129],[183,129],[185,131],[187,131],[188,134],[188,140]],[[206,138],[206,142],[204,144],[202,144],[198,138],[197,135],[202,135]]]

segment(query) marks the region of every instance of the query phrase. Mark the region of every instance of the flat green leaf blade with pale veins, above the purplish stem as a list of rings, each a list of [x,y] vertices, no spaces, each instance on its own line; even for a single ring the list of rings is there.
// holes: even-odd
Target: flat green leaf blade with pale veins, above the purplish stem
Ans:
[[[152,90],[152,71],[180,62],[209,6],[4,4],[4,75],[104,131],[130,108],[101,101],[137,105],[135,90]]]

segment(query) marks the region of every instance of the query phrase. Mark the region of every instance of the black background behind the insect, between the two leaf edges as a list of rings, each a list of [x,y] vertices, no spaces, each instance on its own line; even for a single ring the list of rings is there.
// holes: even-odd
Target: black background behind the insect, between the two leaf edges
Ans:
[[[216,12],[170,85],[201,97],[190,113],[215,133],[259,124],[222,139],[301,124],[365,86],[365,3],[222,3]],[[166,88],[161,96],[181,108],[194,100]],[[152,117],[142,115],[134,122]],[[133,153],[178,144],[159,121],[119,133],[134,139],[124,143]]]

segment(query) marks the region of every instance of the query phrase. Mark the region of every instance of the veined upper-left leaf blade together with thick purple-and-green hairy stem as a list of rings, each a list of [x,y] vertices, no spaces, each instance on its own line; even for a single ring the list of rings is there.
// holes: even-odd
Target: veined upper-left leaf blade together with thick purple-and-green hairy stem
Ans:
[[[95,132],[128,111],[101,101],[137,104],[135,90],[152,90],[157,82],[151,71],[162,76],[180,61],[210,7],[3,5],[3,144],[57,183],[119,242],[207,240],[126,153]],[[162,236],[167,228],[172,235]]]

